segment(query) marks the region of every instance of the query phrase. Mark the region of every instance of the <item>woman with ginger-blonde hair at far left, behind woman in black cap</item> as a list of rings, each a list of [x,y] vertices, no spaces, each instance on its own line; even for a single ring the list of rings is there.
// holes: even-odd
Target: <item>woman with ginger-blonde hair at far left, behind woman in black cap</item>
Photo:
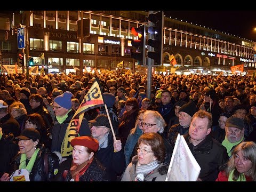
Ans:
[[[13,118],[17,120],[20,125],[20,132],[25,129],[25,122],[28,118],[27,110],[23,103],[20,101],[15,101],[9,107],[9,113]]]

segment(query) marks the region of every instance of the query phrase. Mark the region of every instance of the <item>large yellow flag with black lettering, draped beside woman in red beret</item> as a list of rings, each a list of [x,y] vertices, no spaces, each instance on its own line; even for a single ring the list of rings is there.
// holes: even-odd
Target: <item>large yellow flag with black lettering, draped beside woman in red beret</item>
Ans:
[[[70,142],[75,137],[78,137],[78,132],[83,121],[84,113],[90,109],[104,106],[102,91],[100,89],[100,84],[96,79],[92,84],[91,89],[85,95],[80,106],[76,110],[76,113],[72,117],[71,121],[66,130],[65,137],[61,145],[61,156],[68,157],[71,155],[73,147]]]

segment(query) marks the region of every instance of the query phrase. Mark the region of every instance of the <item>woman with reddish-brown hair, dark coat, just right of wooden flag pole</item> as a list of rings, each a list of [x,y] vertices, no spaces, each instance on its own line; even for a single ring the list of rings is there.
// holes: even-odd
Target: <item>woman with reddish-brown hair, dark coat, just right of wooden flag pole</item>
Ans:
[[[122,142],[122,148],[125,145],[126,139],[134,128],[136,123],[136,118],[138,116],[139,103],[136,98],[127,99],[125,103],[125,111],[123,117],[118,126],[119,137]]]

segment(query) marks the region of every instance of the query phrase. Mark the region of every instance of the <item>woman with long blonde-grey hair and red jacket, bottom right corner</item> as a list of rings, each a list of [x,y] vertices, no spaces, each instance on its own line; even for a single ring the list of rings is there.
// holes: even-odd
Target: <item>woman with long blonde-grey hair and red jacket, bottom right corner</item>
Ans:
[[[256,144],[239,143],[216,181],[256,181]]]

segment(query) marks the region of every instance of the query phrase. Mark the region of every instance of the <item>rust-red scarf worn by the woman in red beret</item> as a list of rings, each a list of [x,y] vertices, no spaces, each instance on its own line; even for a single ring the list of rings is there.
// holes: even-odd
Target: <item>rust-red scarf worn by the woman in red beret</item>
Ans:
[[[73,161],[71,163],[70,173],[75,181],[79,181],[79,178],[85,173],[88,167],[91,165],[93,157],[81,165],[76,165]]]

